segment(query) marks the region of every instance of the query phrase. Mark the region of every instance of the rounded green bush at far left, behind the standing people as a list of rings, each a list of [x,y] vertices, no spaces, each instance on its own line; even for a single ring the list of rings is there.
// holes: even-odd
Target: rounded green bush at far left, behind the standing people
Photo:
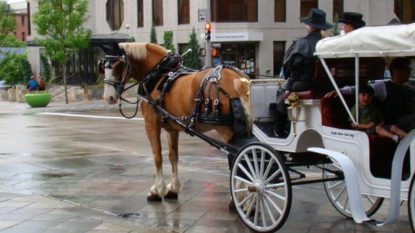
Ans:
[[[0,62],[0,77],[6,84],[25,84],[30,80],[32,68],[26,54],[7,53]]]

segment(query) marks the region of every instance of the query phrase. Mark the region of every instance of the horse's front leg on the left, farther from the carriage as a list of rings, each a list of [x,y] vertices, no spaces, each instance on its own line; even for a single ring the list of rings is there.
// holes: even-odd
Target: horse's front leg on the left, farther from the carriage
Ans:
[[[153,160],[156,166],[156,182],[147,195],[147,201],[162,201],[161,198],[165,195],[166,183],[163,178],[163,157],[161,156],[161,125],[158,117],[150,115],[149,117],[146,117],[147,114],[145,115],[145,131],[153,151]]]

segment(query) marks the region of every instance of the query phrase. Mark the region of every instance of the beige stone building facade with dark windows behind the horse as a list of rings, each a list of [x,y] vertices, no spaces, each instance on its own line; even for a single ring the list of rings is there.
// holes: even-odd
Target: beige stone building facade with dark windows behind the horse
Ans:
[[[93,35],[114,32],[130,35],[136,41],[150,40],[154,21],[158,44],[166,30],[173,31],[178,53],[185,50],[192,28],[199,44],[205,47],[205,22],[199,20],[206,0],[94,0],[89,1],[89,21],[85,27]],[[286,48],[293,39],[306,35],[299,17],[317,7],[333,22],[337,12],[361,12],[367,26],[385,25],[391,19],[415,19],[413,0],[210,0],[212,15],[212,64],[231,64],[250,73],[277,75]],[[34,12],[37,0],[30,0]],[[341,24],[340,24],[341,26]],[[36,36],[32,26],[33,39]],[[39,48],[28,49],[30,63],[39,73]],[[202,57],[203,60],[203,57]]]

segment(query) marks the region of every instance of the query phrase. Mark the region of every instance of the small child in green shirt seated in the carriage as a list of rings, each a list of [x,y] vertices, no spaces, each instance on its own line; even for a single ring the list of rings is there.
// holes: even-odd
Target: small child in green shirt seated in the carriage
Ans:
[[[395,142],[398,142],[400,138],[403,138],[407,133],[402,129],[399,129],[394,124],[385,125],[383,115],[380,113],[380,109],[371,104],[374,97],[374,89],[369,85],[360,86],[359,90],[359,124],[355,124],[349,118],[350,125],[353,128],[360,129],[371,135],[380,135],[387,138],[391,138]],[[356,105],[351,109],[353,118],[356,119]]]

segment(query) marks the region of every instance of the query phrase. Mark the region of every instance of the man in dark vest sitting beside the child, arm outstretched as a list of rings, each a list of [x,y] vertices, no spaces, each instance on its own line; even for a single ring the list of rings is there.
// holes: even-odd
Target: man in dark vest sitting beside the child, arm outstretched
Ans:
[[[386,124],[396,124],[405,132],[415,129],[415,113],[411,106],[414,106],[414,88],[406,85],[411,74],[411,61],[406,57],[397,57],[392,60],[389,71],[391,80],[374,82],[369,84],[374,88],[374,97],[380,101],[380,110],[383,113]],[[344,86],[340,89],[343,94],[353,94],[355,86]],[[331,91],[324,97],[336,96]]]

